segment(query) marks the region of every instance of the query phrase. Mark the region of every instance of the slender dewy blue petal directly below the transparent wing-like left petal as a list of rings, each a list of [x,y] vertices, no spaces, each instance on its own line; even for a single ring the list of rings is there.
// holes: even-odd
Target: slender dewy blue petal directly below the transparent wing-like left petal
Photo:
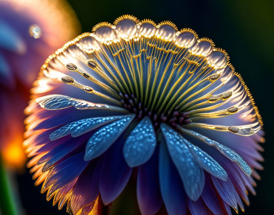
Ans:
[[[94,117],[81,119],[75,122],[71,122],[53,133],[50,134],[50,140],[56,140],[60,137],[64,137],[68,134],[71,134],[72,137],[78,137],[84,133],[92,131],[100,126],[103,126],[114,120],[123,118],[125,116],[109,116],[109,117]]]

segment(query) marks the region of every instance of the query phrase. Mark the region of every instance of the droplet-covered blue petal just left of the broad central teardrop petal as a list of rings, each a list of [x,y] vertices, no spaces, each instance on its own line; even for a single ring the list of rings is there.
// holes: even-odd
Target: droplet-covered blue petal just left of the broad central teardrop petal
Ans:
[[[124,132],[134,117],[135,114],[125,115],[125,118],[109,123],[94,133],[87,142],[85,161],[102,155]]]

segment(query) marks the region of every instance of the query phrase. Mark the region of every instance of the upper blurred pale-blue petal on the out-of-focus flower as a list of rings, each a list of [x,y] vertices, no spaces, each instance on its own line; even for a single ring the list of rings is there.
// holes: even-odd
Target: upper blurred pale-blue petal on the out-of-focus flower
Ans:
[[[26,44],[14,28],[11,28],[8,24],[0,20],[0,29],[1,48],[8,49],[21,55],[27,51]]]

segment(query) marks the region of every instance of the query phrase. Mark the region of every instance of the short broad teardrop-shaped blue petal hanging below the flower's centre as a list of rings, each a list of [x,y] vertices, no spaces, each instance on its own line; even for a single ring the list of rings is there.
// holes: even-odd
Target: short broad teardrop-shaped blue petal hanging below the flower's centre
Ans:
[[[153,155],[156,147],[154,127],[148,116],[131,131],[124,148],[124,158],[130,167],[140,166]]]

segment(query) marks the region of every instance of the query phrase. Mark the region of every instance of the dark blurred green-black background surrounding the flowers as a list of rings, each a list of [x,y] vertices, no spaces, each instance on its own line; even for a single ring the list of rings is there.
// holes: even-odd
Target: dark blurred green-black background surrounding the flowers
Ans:
[[[245,80],[264,121],[266,143],[262,153],[264,171],[255,188],[257,195],[249,195],[250,206],[245,214],[273,214],[273,56],[274,2],[273,1],[103,1],[68,0],[75,10],[83,32],[102,21],[112,23],[118,16],[131,14],[140,20],[149,18],[159,23],[174,22],[177,27],[190,27],[199,37],[211,38],[216,47],[225,49],[231,63]],[[22,205],[28,215],[67,214],[46,202],[39,187],[34,187],[31,174],[18,176]],[[39,203],[38,203],[39,202]],[[43,208],[43,210],[41,210]],[[243,214],[242,212],[239,212]]]

